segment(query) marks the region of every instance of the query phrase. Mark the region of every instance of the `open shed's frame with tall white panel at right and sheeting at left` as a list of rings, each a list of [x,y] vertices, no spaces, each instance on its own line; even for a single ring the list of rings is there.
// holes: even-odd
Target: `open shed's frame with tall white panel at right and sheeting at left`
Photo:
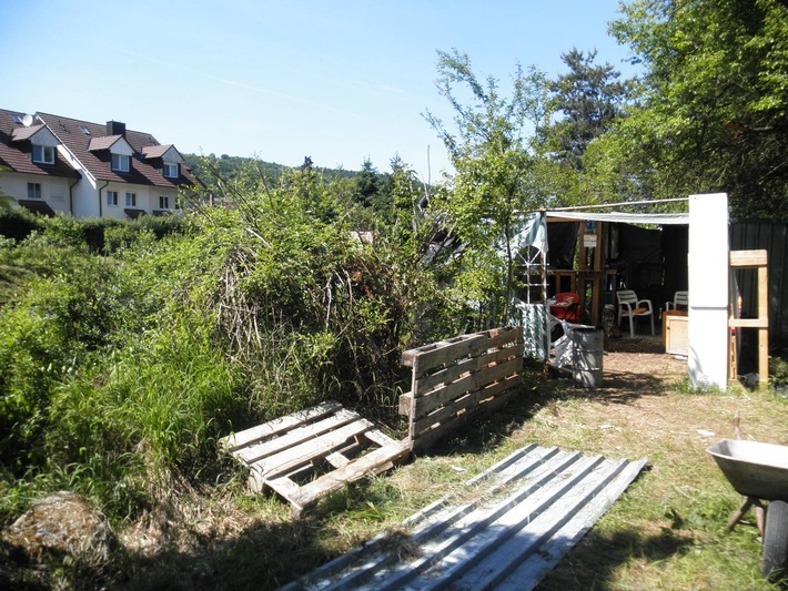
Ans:
[[[541,281],[531,284],[525,293],[524,324],[526,335],[535,335],[526,349],[536,357],[546,358],[549,346],[548,326],[535,328],[534,324],[547,317],[547,294],[566,288],[562,281],[573,282],[568,287],[578,293],[587,318],[595,326],[600,323],[605,304],[613,304],[616,268],[603,265],[603,251],[609,246],[610,224],[640,224],[655,226],[688,226],[686,267],[690,298],[688,312],[688,365],[694,386],[714,386],[723,390],[728,381],[729,346],[729,243],[728,198],[725,193],[690,195],[689,213],[641,214],[597,213],[592,211],[542,211],[532,214],[524,230],[515,238],[515,247],[529,252],[526,273],[542,274]],[[629,204],[623,204],[629,205]],[[574,221],[580,224],[577,268],[550,269],[547,265],[547,223]],[[606,243],[608,241],[608,243]],[[535,256],[534,253],[539,253]],[[681,257],[680,248],[675,256]],[[539,268],[541,265],[541,268]],[[569,265],[572,263],[569,262]],[[566,264],[559,263],[559,266]],[[548,286],[548,282],[550,285]],[[541,293],[539,293],[541,292]],[[657,302],[655,302],[657,304]]]

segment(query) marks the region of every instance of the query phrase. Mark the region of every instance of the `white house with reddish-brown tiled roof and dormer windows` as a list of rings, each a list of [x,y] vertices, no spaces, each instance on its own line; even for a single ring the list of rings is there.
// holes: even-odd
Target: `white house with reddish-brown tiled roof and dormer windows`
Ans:
[[[0,192],[32,211],[133,220],[174,212],[201,186],[150,133],[0,110]]]

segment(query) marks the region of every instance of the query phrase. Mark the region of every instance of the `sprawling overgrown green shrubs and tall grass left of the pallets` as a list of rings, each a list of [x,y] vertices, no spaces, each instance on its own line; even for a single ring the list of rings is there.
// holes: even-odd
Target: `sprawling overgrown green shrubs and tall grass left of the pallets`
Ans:
[[[306,170],[185,222],[57,217],[0,251],[26,273],[0,307],[0,460],[20,482],[0,516],[57,487],[127,517],[220,470],[232,430],[327,398],[392,408],[414,323],[446,336],[447,306],[423,236],[393,216],[360,243],[343,191]]]

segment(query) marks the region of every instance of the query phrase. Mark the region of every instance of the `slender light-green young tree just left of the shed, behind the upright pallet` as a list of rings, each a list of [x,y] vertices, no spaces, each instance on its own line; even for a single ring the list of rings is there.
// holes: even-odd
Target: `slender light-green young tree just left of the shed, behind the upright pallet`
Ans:
[[[438,92],[454,109],[453,126],[427,112],[456,171],[451,185],[431,204],[448,215],[451,231],[465,243],[457,298],[476,305],[475,327],[499,325],[514,293],[511,238],[519,212],[535,208],[541,193],[531,174],[536,156],[529,137],[545,112],[545,77],[519,65],[512,93],[502,93],[493,77],[481,80],[456,50],[438,52]],[[502,257],[499,253],[504,253]]]

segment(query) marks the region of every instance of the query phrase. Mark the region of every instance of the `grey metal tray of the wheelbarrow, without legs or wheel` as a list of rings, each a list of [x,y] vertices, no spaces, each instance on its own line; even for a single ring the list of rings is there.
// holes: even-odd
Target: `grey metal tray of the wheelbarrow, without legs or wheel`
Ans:
[[[788,446],[723,439],[706,451],[739,495],[788,502]]]

